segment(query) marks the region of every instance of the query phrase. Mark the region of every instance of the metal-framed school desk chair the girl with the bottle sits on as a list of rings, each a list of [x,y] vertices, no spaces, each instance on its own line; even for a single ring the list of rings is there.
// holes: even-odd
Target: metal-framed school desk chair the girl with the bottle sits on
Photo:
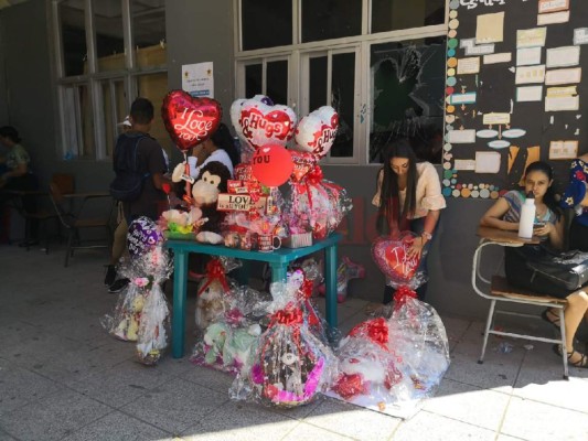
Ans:
[[[485,235],[485,233],[487,232],[484,232],[483,228],[480,228],[478,230],[478,235],[481,236],[482,239],[480,240],[480,245],[478,246],[473,255],[473,266],[472,266],[473,290],[479,295],[483,297],[484,299],[490,300],[490,309],[488,311],[488,318],[487,318],[485,329],[484,329],[484,342],[482,344],[482,353],[480,354],[480,358],[478,359],[478,363],[479,364],[484,363],[484,354],[485,354],[485,348],[488,346],[488,337],[490,334],[514,337],[514,338],[532,340],[532,341],[538,341],[538,342],[545,342],[545,343],[556,343],[556,344],[560,344],[562,347],[566,347],[566,329],[565,329],[566,322],[565,322],[565,316],[564,316],[564,309],[567,304],[567,301],[565,299],[537,295],[530,291],[510,287],[506,279],[503,277],[493,276],[492,279],[489,280],[489,279],[485,279],[481,275],[480,263],[481,263],[481,258],[482,258],[482,250],[484,247],[491,246],[491,245],[498,245],[501,247],[520,247],[520,246],[523,246],[524,244],[521,240],[509,241],[509,239],[504,237],[495,237],[495,235],[492,236],[492,234]],[[501,235],[506,235],[506,233],[501,232]],[[485,287],[482,288],[481,284]],[[494,318],[498,314],[539,319],[539,316],[535,314],[526,314],[526,313],[521,313],[521,312],[500,310],[496,308],[498,302],[518,303],[518,304],[526,304],[526,305],[533,305],[533,306],[541,306],[542,309],[550,308],[553,310],[557,310],[558,315],[559,315],[560,336],[558,338],[547,338],[543,336],[517,334],[515,332],[504,332],[504,331],[494,330],[493,329]],[[563,351],[562,359],[564,363],[564,376],[563,377],[564,379],[568,379],[568,363],[567,363],[566,351]]]

